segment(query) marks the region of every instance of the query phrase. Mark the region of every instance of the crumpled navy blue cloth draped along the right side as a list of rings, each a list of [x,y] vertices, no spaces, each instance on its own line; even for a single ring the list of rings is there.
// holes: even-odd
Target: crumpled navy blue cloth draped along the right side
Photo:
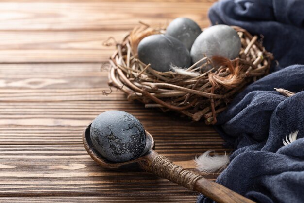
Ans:
[[[209,18],[262,34],[280,64],[218,115],[215,128],[235,151],[217,182],[258,203],[304,203],[304,65],[292,65],[304,64],[304,0],[222,0]],[[298,139],[284,146],[296,130]],[[197,202],[213,203],[203,195]]]

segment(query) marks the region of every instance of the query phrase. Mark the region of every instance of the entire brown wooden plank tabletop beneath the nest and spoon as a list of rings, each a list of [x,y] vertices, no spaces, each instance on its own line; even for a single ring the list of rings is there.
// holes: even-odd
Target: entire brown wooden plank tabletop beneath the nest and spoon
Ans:
[[[214,0],[1,0],[0,203],[193,203],[197,194],[147,173],[102,169],[86,153],[84,127],[107,110],[128,111],[156,150],[186,168],[223,140],[203,122],[109,95],[107,59],[138,21],[180,16],[208,26]],[[102,69],[102,71],[101,71]],[[218,174],[206,175],[214,180]]]

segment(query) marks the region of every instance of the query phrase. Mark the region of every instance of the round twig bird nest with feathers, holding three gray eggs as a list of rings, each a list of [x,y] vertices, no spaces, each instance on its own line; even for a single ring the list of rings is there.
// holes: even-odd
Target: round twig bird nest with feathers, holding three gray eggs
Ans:
[[[138,59],[137,45],[144,37],[165,30],[136,27],[116,44],[110,58],[109,85],[125,92],[128,100],[141,101],[146,108],[178,111],[194,121],[203,117],[206,124],[215,124],[217,113],[224,111],[238,92],[268,74],[273,59],[257,36],[240,27],[232,28],[242,44],[236,59],[204,57],[184,71],[158,72]],[[202,67],[209,67],[208,71],[203,72]]]

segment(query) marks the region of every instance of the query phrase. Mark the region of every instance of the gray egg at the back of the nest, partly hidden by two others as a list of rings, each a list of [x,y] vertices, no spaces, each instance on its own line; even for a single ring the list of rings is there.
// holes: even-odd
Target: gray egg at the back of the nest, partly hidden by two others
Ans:
[[[202,30],[196,22],[189,18],[176,18],[167,27],[166,35],[180,40],[190,51],[196,37]]]

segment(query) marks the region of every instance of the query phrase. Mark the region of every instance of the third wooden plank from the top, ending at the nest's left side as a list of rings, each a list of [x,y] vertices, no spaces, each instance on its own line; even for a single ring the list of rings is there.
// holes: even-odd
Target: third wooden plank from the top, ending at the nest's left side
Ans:
[[[0,101],[125,100],[116,88],[107,95],[111,90],[106,67],[95,63],[0,64]]]

